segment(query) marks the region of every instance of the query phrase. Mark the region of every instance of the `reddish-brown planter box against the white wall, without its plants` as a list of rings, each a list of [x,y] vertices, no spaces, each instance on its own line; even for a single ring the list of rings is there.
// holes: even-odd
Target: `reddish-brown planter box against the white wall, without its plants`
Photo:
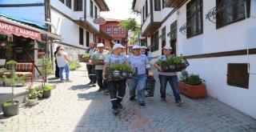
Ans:
[[[184,82],[178,81],[178,90],[181,94],[184,94],[190,98],[204,98],[206,97],[206,84],[202,83],[198,86],[190,86]]]

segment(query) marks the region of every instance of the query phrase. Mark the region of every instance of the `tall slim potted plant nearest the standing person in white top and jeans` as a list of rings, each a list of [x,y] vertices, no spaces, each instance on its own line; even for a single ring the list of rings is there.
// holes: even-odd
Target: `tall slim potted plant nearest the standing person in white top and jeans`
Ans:
[[[52,74],[52,63],[50,58],[47,55],[42,56],[42,94],[43,97],[49,98],[51,90],[54,89],[54,86],[46,85],[47,82],[47,74]]]

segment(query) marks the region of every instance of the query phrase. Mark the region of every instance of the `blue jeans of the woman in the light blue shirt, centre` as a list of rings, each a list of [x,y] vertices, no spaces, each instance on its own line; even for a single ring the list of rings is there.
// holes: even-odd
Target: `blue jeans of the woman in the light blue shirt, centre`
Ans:
[[[145,100],[145,86],[146,86],[146,74],[138,74],[137,77],[128,80],[130,88],[130,97],[135,97],[135,90],[137,88],[138,102],[144,103]]]

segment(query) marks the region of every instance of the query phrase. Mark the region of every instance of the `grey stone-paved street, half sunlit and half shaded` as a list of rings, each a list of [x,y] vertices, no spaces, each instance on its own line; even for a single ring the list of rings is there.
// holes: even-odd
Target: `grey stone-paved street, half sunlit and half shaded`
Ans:
[[[36,106],[20,106],[20,113],[6,118],[0,114],[0,131],[251,131],[256,132],[256,120],[214,98],[190,99],[182,95],[184,104],[176,106],[167,88],[166,102],[159,95],[146,98],[146,107],[129,101],[129,90],[118,115],[112,114],[110,97],[90,87],[86,66],[71,71],[73,82],[59,82],[50,98]]]

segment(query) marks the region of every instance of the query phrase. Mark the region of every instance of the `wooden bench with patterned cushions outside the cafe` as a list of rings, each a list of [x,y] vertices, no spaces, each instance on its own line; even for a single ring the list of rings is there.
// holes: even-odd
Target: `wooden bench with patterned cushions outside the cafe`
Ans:
[[[33,85],[34,80],[34,61],[32,62],[17,62],[14,66],[15,72],[18,77],[24,77],[23,86],[25,85],[26,79],[31,79],[31,86]],[[10,70],[10,65],[6,65],[6,69]],[[2,75],[6,75],[7,78],[10,78],[10,72],[5,72]],[[3,82],[5,85],[5,82]]]

